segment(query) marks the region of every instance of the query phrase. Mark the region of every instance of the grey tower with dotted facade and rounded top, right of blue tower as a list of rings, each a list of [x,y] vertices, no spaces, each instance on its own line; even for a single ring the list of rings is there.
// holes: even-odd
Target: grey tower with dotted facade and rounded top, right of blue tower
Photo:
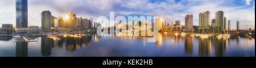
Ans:
[[[42,20],[42,31],[49,32],[51,31],[51,23],[52,23],[52,14],[50,11],[43,11],[41,13]]]

